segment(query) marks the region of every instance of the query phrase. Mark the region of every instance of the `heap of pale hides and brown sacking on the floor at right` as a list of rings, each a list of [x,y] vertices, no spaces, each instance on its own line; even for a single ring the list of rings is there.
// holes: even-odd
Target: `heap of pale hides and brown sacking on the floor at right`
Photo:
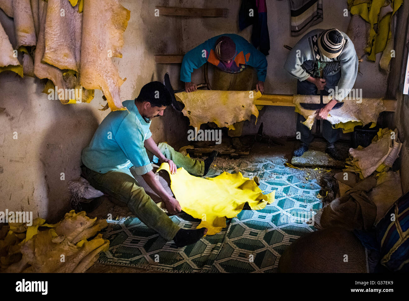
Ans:
[[[369,146],[351,148],[348,167],[334,176],[340,197],[315,215],[317,229],[372,229],[402,195],[399,172],[390,170],[401,148],[397,129],[380,129]]]

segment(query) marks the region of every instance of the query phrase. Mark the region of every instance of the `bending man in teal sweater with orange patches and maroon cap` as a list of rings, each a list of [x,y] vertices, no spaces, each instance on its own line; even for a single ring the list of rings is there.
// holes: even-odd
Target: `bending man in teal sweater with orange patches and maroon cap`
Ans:
[[[212,90],[250,91],[255,86],[256,91],[264,92],[267,59],[245,38],[237,34],[222,34],[185,54],[180,80],[185,82],[186,92],[197,90],[197,85],[191,81],[191,74],[206,62],[217,67],[213,74]],[[257,79],[252,67],[257,70]],[[237,149],[241,147],[238,137],[243,131],[243,121],[236,122],[234,128],[228,131],[228,135],[232,138],[233,147]]]

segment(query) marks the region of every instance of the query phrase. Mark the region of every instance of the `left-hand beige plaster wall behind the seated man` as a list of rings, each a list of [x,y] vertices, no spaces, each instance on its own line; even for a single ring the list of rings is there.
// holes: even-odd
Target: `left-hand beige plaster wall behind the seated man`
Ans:
[[[177,65],[157,65],[153,56],[180,53],[180,22],[155,18],[155,5],[177,6],[177,1],[121,1],[131,11],[125,32],[123,57],[115,58],[119,75],[126,77],[121,99],[137,97],[140,88],[152,80],[163,81],[165,72],[177,82]],[[141,9],[143,8],[143,9]],[[11,43],[13,22],[0,10],[0,22]],[[33,216],[61,218],[68,210],[67,182],[80,175],[80,156],[99,123],[110,110],[99,111],[106,102],[95,91],[90,104],[63,105],[41,93],[39,79],[21,79],[11,72],[0,73],[0,211],[33,211]],[[13,132],[18,139],[13,140]],[[173,145],[184,137],[187,125],[171,108],[151,125],[153,138]],[[65,180],[60,179],[61,172]]]

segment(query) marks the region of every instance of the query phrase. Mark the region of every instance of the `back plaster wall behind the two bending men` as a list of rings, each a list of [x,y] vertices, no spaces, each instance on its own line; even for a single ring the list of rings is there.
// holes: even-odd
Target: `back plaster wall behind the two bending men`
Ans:
[[[344,9],[347,8],[346,0],[324,0],[324,21],[310,27],[316,28],[338,28],[346,32],[351,16],[344,17]],[[239,0],[207,0],[207,1],[181,1],[184,6],[189,7],[225,7],[229,9],[229,18],[181,18],[183,51],[199,45],[212,36],[224,33],[237,33],[250,41],[252,26],[243,31],[238,28],[238,11],[241,1]],[[283,45],[293,47],[302,37],[290,36],[290,5],[287,0],[267,1],[267,20],[270,34],[270,54],[267,56],[268,68],[265,82],[265,93],[271,94],[296,94],[297,79],[291,77],[283,69],[285,59],[289,50]],[[307,32],[308,32],[307,30]],[[354,88],[362,88],[363,97],[383,97],[386,91],[387,74],[378,70],[380,55],[377,63],[366,61],[360,64],[362,75],[358,74]],[[193,72],[192,80],[196,83],[203,82],[202,68]],[[376,83],[376,84],[374,84]],[[243,134],[256,134],[259,124],[264,123],[264,133],[274,136],[295,136],[296,113],[292,107],[265,106],[260,112],[258,122],[254,125],[255,118],[251,122],[246,121]],[[315,126],[313,127],[315,129]]]

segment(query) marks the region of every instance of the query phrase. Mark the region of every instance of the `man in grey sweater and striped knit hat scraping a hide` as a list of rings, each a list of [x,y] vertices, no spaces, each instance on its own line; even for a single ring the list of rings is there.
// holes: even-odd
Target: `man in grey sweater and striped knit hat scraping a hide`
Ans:
[[[334,95],[323,108],[317,110],[317,119],[324,120],[322,136],[327,140],[326,152],[336,160],[343,160],[335,142],[339,129],[328,122],[328,113],[337,102],[342,102],[355,84],[358,72],[358,57],[351,39],[338,29],[314,29],[292,48],[284,64],[285,70],[298,79],[300,95]],[[301,146],[294,156],[302,156],[308,150],[314,136],[308,127],[301,124],[305,118],[298,114],[297,131],[301,133]]]

